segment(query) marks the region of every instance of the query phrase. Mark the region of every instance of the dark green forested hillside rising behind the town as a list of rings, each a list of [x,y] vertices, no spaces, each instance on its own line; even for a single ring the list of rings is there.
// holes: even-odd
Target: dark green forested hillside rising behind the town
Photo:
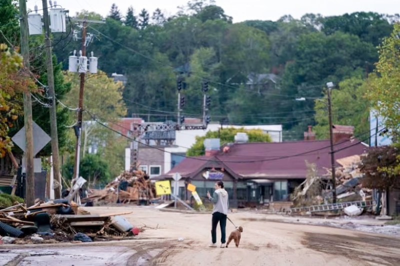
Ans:
[[[171,17],[159,9],[134,8],[118,10],[114,4],[105,24],[89,23],[87,28],[93,34],[87,52],[98,57],[98,68],[109,76],[127,77],[123,89],[127,116],[151,113],[164,115],[152,116],[152,121],[164,120],[165,115],[175,120],[176,79],[182,78],[183,113],[201,117],[201,82],[207,80],[212,121],[283,124],[285,139],[301,139],[307,125],[316,123],[314,101],[295,98],[323,97],[329,81],[340,90],[340,82],[352,80],[342,83],[350,94],[364,86],[363,79],[378,60],[376,46],[398,19],[398,15],[355,12],[232,23],[221,7],[202,1],[189,2]],[[88,19],[101,19],[95,10],[87,13]],[[83,12],[76,16],[83,17]],[[64,35],[53,47],[64,69],[71,52],[80,49],[80,40],[71,36]],[[334,122],[351,123],[340,119],[358,112],[358,123],[367,123],[364,107],[348,108],[334,107]],[[323,128],[323,119],[319,120]]]

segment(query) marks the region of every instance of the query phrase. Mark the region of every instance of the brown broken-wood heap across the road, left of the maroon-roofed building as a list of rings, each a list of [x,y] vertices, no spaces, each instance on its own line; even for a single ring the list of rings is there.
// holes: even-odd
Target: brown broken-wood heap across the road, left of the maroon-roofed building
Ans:
[[[82,203],[91,201],[100,205],[109,203],[137,203],[154,199],[155,186],[142,171],[122,172],[104,189],[88,190],[88,196],[81,199]]]

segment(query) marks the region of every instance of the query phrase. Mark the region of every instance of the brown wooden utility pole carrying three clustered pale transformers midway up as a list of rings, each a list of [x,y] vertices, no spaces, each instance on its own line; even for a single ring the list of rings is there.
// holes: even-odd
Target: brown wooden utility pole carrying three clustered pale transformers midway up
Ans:
[[[84,16],[82,27],[82,55],[86,56],[86,19]],[[73,178],[76,180],[79,177],[79,156],[80,156],[80,136],[82,132],[82,111],[83,111],[83,89],[84,89],[84,76],[85,72],[80,73],[80,87],[79,87],[79,103],[78,103],[78,119],[77,119],[77,137],[75,145],[75,162],[73,164]]]

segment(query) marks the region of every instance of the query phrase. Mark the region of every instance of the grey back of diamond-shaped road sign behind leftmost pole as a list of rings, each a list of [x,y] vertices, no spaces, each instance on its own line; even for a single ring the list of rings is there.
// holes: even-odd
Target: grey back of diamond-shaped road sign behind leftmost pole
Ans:
[[[33,156],[35,156],[51,138],[43,131],[34,121],[32,121],[32,131],[33,131]],[[25,152],[25,127],[21,128],[11,140],[19,147],[23,152]]]

